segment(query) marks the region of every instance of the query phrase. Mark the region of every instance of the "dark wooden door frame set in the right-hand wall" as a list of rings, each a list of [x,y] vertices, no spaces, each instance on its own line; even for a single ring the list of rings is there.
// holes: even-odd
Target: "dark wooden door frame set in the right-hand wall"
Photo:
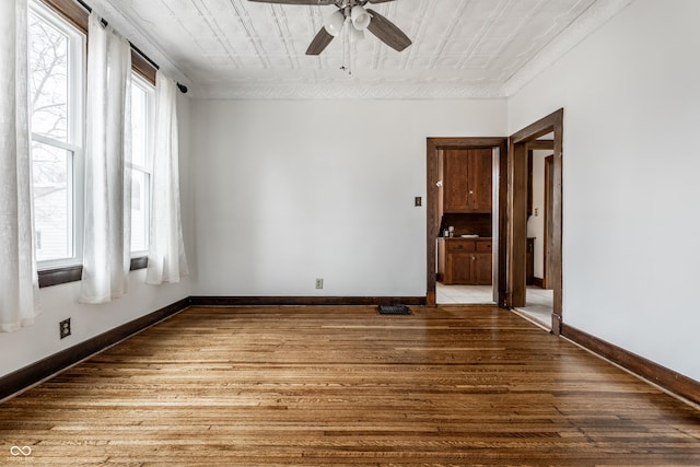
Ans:
[[[551,133],[551,143],[538,140]],[[511,308],[526,306],[527,293],[527,219],[528,219],[528,148],[551,144],[551,162],[547,178],[547,221],[544,247],[546,255],[546,285],[552,290],[551,331],[561,332],[562,323],[562,148],[563,109],[517,131],[510,138],[508,171],[508,287],[506,303]]]

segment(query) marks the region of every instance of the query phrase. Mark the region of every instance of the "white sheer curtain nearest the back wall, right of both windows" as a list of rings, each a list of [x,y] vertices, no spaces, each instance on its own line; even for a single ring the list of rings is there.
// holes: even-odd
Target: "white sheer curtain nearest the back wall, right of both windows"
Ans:
[[[145,281],[179,282],[188,273],[179,212],[177,85],[155,74],[155,144],[153,152],[153,209]]]

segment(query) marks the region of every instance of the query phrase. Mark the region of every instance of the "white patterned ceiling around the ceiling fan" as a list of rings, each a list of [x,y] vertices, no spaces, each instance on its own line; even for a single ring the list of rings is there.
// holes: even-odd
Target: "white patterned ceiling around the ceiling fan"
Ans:
[[[122,24],[127,38],[170,63],[165,68],[203,97],[493,97],[522,85],[629,1],[375,4],[413,45],[397,52],[368,33],[353,48],[351,75],[339,69],[340,37],[318,57],[304,55],[335,7],[247,0],[94,3],[117,28]]]

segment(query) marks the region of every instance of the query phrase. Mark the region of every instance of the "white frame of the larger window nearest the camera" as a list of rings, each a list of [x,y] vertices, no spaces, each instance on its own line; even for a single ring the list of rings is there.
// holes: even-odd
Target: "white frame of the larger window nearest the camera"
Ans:
[[[67,180],[72,194],[69,203],[69,215],[72,222],[68,225],[68,237],[71,242],[72,255],[67,258],[37,261],[38,270],[57,269],[82,264],[83,246],[83,198],[84,198],[84,82],[85,82],[85,35],[68,21],[38,0],[30,0],[32,13],[65,33],[69,37],[68,46],[68,120],[67,141],[58,141],[43,135],[32,133],[32,141],[51,145],[72,153],[69,178]]]

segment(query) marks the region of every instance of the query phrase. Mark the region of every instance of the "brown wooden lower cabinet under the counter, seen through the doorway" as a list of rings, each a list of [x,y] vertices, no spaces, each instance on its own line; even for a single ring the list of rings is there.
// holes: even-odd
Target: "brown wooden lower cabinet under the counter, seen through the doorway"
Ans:
[[[491,284],[491,238],[439,238],[438,280],[446,285]]]

